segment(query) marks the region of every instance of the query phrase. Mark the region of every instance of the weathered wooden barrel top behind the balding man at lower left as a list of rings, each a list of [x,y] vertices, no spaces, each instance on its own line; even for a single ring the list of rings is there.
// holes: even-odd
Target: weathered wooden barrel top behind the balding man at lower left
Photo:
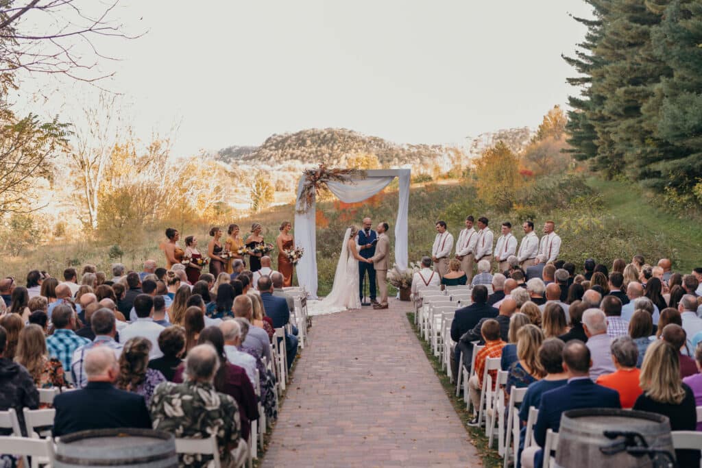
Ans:
[[[152,429],[93,429],[58,439],[56,468],[176,468],[173,434]]]

